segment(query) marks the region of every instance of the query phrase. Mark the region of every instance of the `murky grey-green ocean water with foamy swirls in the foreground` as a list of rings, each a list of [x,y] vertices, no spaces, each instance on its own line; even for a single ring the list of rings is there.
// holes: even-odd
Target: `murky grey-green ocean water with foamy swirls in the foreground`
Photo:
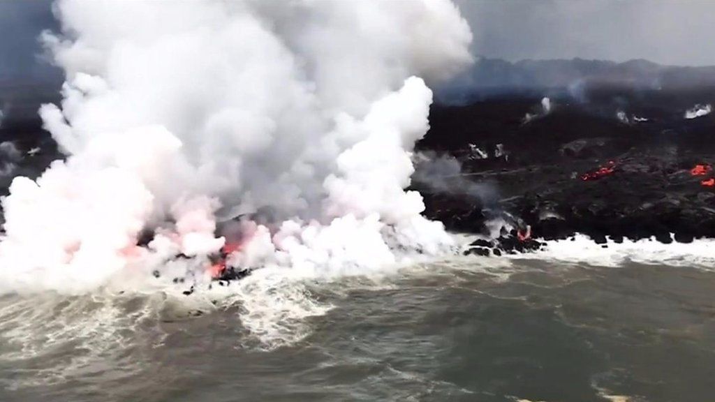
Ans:
[[[708,401],[715,273],[515,261],[0,298],[0,401]],[[215,305],[210,303],[215,302]]]

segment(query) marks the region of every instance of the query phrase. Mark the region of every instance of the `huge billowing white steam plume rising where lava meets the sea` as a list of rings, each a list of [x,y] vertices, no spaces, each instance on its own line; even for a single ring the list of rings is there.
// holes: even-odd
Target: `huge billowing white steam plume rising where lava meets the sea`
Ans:
[[[220,221],[265,208],[271,222],[235,223],[235,264],[331,275],[452,247],[403,190],[428,129],[425,81],[471,62],[450,1],[56,10],[63,34],[44,41],[64,99],[40,114],[67,158],[12,182],[1,286],[77,292],[155,270],[200,280],[225,245]]]

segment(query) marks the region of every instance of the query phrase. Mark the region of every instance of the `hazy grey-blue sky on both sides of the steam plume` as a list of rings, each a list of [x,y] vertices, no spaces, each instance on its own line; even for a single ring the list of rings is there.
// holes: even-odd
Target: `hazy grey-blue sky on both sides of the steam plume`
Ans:
[[[92,1],[92,0],[88,0]],[[159,0],[157,0],[159,1]],[[0,0],[0,79],[39,77],[36,36],[56,29],[49,0]],[[645,58],[715,64],[714,0],[457,0],[473,52],[518,59]]]

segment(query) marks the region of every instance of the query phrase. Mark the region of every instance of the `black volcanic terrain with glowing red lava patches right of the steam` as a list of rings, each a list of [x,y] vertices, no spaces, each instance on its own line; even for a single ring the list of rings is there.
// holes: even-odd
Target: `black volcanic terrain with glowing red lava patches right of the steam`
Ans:
[[[533,96],[433,106],[418,149],[455,158],[461,172],[420,181],[435,162],[418,164],[413,187],[425,214],[485,235],[502,218],[547,240],[715,237],[715,115],[704,114],[715,89],[601,87],[586,96],[552,98],[548,113]],[[696,104],[703,115],[686,119]],[[487,191],[455,190],[472,185]]]

